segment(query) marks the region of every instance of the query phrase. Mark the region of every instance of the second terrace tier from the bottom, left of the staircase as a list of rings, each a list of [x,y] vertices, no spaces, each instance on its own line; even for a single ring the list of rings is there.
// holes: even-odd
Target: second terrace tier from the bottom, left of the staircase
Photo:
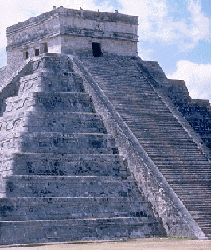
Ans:
[[[0,221],[153,217],[143,197],[2,198]]]

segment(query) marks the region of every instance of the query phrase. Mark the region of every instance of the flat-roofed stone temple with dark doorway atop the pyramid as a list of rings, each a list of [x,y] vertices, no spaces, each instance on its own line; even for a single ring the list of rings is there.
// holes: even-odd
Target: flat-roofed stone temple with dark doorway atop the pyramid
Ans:
[[[138,17],[54,7],[7,28],[7,65],[42,53],[136,56]]]

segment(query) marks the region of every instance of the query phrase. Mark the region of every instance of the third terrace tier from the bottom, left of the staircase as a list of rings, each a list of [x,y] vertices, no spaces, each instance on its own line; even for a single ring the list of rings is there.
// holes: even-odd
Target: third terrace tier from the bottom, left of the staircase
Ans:
[[[3,177],[2,197],[131,197],[139,194],[132,177],[21,176]]]

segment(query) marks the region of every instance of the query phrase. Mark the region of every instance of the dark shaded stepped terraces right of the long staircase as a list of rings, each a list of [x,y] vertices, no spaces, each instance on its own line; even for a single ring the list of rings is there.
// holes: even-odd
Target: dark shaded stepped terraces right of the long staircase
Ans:
[[[153,78],[153,86],[170,98],[170,102],[188,121],[197,137],[197,143],[204,142],[204,152],[211,155],[211,106],[209,100],[192,99],[183,80],[167,79],[165,73],[157,62],[139,61],[147,68],[149,75]],[[191,132],[192,133],[192,132]],[[209,150],[208,150],[209,148]],[[209,152],[207,152],[207,150]]]

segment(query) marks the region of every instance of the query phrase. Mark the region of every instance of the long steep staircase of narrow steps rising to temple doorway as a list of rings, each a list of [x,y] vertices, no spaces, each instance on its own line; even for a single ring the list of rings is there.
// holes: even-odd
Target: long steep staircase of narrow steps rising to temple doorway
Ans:
[[[211,236],[211,164],[146,78],[140,60],[80,57],[207,237]]]

